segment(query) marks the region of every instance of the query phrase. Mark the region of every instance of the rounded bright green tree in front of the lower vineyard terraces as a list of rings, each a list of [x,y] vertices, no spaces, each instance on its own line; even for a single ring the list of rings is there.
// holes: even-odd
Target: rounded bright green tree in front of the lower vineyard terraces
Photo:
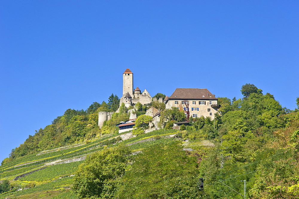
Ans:
[[[119,178],[132,159],[131,150],[125,145],[104,148],[86,157],[74,173],[73,191],[79,198],[112,198]]]

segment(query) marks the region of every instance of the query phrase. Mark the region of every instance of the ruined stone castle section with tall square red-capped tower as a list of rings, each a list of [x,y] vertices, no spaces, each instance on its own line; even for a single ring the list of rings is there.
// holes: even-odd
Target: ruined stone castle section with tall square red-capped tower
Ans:
[[[147,89],[144,89],[142,93],[138,86],[136,89],[133,89],[133,73],[127,68],[125,72],[123,72],[123,96],[120,98],[119,105],[125,103],[126,107],[129,107],[137,102],[140,102],[141,104],[152,102],[152,97]]]

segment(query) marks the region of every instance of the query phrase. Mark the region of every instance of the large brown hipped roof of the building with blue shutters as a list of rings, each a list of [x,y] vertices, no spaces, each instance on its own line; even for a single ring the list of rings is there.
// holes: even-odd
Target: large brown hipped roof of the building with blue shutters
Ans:
[[[217,98],[206,88],[177,88],[168,99],[217,100]]]

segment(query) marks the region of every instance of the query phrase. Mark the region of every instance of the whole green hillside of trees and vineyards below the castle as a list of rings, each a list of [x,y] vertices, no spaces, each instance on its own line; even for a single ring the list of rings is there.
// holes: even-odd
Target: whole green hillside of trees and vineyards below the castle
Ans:
[[[123,106],[97,127],[98,111],[118,107],[113,94],[68,109],[2,161],[0,198],[244,198],[244,180],[247,198],[299,198],[298,109],[254,85],[241,91],[242,99],[218,97],[215,120],[191,117],[174,130],[182,113],[164,110],[161,129],[138,127],[136,137],[115,127],[128,118]],[[138,115],[151,105],[135,107]]]

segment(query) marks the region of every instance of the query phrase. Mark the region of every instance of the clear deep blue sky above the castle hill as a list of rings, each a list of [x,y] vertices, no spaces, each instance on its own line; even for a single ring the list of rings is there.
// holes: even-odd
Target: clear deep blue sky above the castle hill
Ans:
[[[296,108],[299,1],[0,1],[0,161],[68,108],[256,85]]]

